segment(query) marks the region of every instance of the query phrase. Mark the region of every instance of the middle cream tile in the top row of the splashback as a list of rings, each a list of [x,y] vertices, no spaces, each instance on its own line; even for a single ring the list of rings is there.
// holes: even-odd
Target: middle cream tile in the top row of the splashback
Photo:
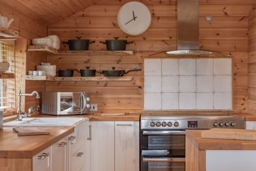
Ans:
[[[195,75],[195,59],[180,59],[179,70],[180,75]]]

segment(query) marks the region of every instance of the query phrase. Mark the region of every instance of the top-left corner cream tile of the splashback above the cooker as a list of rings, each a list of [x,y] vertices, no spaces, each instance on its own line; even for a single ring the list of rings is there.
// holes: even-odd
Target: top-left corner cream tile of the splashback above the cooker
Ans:
[[[144,75],[154,76],[161,75],[161,59],[144,60]]]

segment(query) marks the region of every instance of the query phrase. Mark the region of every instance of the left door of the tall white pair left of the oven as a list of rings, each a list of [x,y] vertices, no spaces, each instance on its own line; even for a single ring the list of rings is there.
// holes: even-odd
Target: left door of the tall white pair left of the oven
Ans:
[[[91,122],[91,138],[91,171],[114,171],[114,122]]]

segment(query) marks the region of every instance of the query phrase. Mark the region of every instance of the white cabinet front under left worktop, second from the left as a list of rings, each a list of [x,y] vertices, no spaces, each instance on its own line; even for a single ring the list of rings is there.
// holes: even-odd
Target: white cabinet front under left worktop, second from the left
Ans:
[[[52,145],[52,171],[67,171],[68,147],[66,138]]]

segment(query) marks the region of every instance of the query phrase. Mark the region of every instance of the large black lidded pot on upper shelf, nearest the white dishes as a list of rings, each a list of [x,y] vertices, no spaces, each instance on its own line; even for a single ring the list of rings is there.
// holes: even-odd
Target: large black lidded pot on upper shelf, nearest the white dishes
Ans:
[[[89,44],[95,43],[95,41],[90,41],[88,39],[81,39],[82,37],[76,37],[76,40],[68,40],[64,44],[69,45],[69,50],[88,50]]]

